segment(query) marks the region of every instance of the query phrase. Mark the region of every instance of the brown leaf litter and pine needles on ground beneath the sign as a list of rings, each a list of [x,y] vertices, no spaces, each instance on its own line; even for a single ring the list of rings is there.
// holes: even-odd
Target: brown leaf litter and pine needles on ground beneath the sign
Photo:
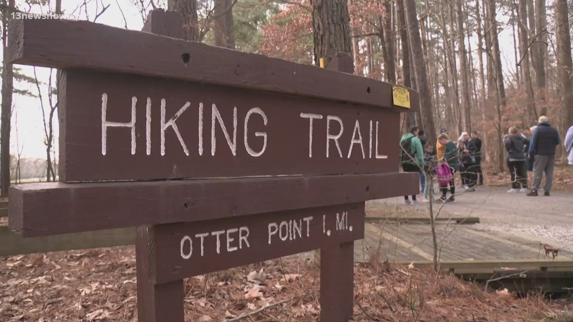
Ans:
[[[313,253],[185,281],[186,321],[317,321],[320,268]],[[356,321],[558,321],[568,301],[518,298],[431,270],[355,265]],[[137,321],[133,246],[0,258],[0,321]],[[569,320],[559,320],[569,321]]]

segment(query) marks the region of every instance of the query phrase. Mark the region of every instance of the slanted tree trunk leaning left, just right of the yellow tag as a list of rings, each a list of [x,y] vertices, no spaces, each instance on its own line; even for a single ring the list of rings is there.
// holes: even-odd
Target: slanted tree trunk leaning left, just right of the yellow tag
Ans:
[[[420,94],[420,107],[422,125],[426,130],[430,142],[435,142],[437,135],[434,125],[434,105],[431,101],[431,92],[427,80],[426,62],[422,52],[422,39],[419,33],[418,17],[415,0],[404,0],[404,11],[407,21],[410,48],[414,61],[418,92]]]

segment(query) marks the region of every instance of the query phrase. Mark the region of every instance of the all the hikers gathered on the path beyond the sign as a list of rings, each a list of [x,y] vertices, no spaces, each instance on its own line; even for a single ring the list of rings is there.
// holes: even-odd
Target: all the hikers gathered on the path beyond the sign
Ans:
[[[552,127],[546,116],[539,117],[539,123],[531,128],[531,138],[527,138],[519,126],[509,128],[503,143],[507,151],[507,167],[511,173],[511,189],[508,193],[527,193],[533,197],[543,190],[550,195],[555,168],[555,152],[561,140],[559,132]],[[435,144],[428,142],[423,129],[417,126],[402,136],[400,163],[405,172],[419,172],[422,202],[429,201],[433,182],[426,178],[437,178],[441,190],[440,201],[455,201],[457,172],[461,176],[461,188],[475,191],[476,186],[484,184],[481,169],[482,142],[476,131],[469,135],[462,132],[457,142],[442,128]],[[573,126],[564,140],[568,152],[568,163],[573,165]],[[528,190],[527,171],[533,172],[533,183]],[[541,181],[545,174],[545,185]],[[448,193],[450,195],[448,196]],[[411,197],[411,200],[410,198]],[[417,195],[404,196],[405,205],[418,205]]]

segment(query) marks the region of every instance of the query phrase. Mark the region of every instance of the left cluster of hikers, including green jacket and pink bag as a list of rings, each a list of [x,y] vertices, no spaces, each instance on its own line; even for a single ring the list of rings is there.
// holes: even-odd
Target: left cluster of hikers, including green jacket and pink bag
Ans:
[[[442,128],[439,131],[438,140],[435,144],[428,142],[423,129],[417,126],[411,127],[410,131],[402,136],[400,142],[400,163],[405,172],[419,172],[422,202],[429,201],[430,190],[433,182],[426,184],[427,178],[438,178],[441,198],[443,202],[455,201],[456,173],[461,175],[461,188],[475,191],[477,185],[484,184],[484,175],[481,170],[482,142],[477,132],[470,136],[463,132],[457,143],[448,135],[448,130]],[[450,196],[448,197],[448,192]],[[405,205],[418,205],[416,195],[404,196]]]

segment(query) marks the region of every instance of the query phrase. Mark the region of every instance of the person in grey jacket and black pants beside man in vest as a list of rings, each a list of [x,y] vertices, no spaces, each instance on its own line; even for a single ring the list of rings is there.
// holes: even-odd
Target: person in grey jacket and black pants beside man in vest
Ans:
[[[508,153],[507,167],[511,173],[511,189],[508,193],[527,193],[527,170],[525,169],[525,148],[529,139],[521,135],[516,127],[509,128],[509,134],[504,137],[505,150]],[[520,190],[521,188],[521,190]]]

